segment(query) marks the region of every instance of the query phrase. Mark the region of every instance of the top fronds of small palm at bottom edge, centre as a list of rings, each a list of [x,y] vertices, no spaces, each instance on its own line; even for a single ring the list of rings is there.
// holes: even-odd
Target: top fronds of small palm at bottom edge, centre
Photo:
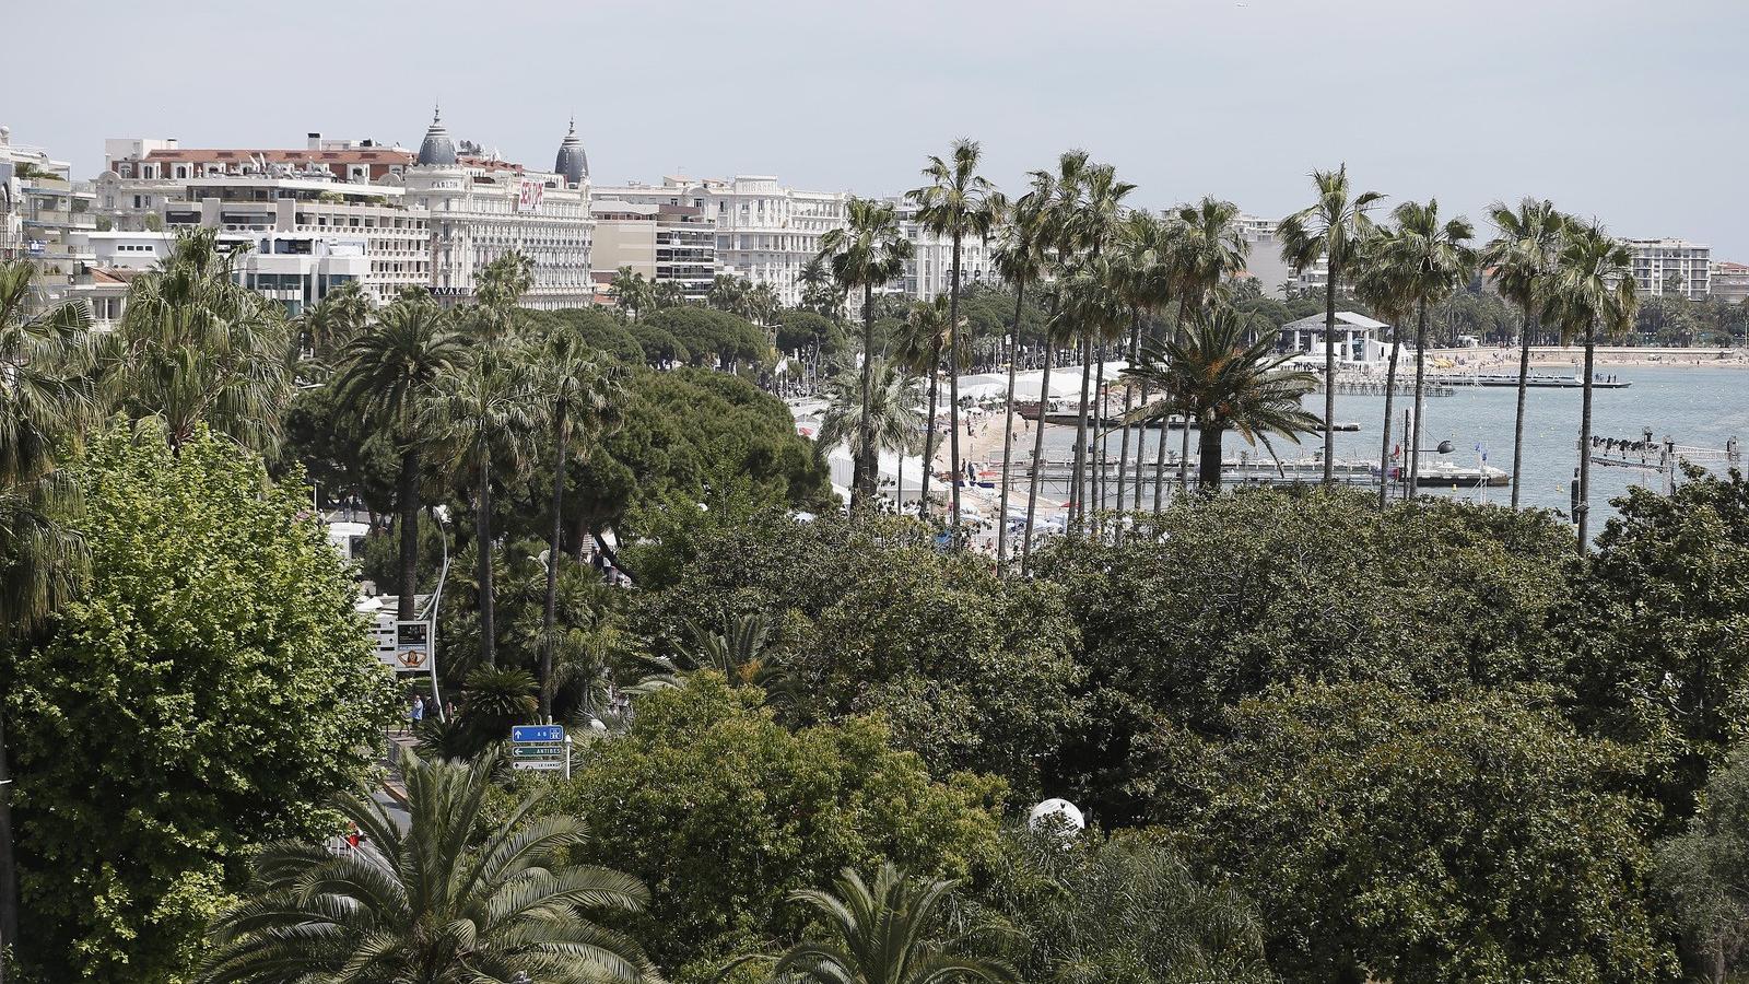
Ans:
[[[791,895],[792,902],[813,910],[824,935],[805,938],[778,956],[773,980],[1007,984],[1014,979],[1002,963],[960,956],[960,940],[937,937],[953,905],[951,881],[909,877],[887,861],[874,884],[854,868],[845,868],[836,884],[836,893],[801,889]]]

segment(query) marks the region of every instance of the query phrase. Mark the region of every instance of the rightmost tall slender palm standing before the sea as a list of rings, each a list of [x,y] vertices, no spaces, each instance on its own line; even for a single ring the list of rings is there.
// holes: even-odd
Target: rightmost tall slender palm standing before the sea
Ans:
[[[1634,254],[1599,222],[1569,219],[1562,235],[1555,275],[1543,294],[1543,320],[1560,327],[1562,345],[1574,334],[1585,338],[1585,382],[1579,403],[1579,553],[1590,548],[1586,518],[1592,496],[1592,382],[1595,378],[1597,333],[1620,334],[1634,326],[1639,298],[1634,292]]]

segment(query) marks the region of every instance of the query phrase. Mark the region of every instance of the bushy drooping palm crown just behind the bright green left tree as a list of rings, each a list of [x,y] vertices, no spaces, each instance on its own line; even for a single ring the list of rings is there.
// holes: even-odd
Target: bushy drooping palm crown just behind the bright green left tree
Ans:
[[[271,452],[292,396],[292,334],[280,306],[243,287],[236,252],[215,229],[177,240],[157,270],[128,287],[103,340],[105,385],[133,418],[157,418],[180,448],[199,424]]]

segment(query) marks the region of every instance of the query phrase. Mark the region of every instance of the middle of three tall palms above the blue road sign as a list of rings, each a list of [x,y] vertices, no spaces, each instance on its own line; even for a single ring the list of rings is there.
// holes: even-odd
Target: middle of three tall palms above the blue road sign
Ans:
[[[474,481],[474,550],[479,580],[479,662],[498,662],[491,585],[491,466],[505,460],[521,469],[544,424],[544,406],[533,385],[528,357],[519,350],[484,352],[437,382],[425,408],[425,424],[448,448],[458,474]]]

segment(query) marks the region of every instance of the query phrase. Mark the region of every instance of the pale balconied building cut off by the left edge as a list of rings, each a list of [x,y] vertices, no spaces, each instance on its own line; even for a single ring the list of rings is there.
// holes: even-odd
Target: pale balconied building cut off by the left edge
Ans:
[[[66,161],[14,144],[12,131],[0,126],[0,259],[37,264],[40,303],[66,299],[91,263],[87,236],[98,224],[91,201],[91,184],[75,182]]]

